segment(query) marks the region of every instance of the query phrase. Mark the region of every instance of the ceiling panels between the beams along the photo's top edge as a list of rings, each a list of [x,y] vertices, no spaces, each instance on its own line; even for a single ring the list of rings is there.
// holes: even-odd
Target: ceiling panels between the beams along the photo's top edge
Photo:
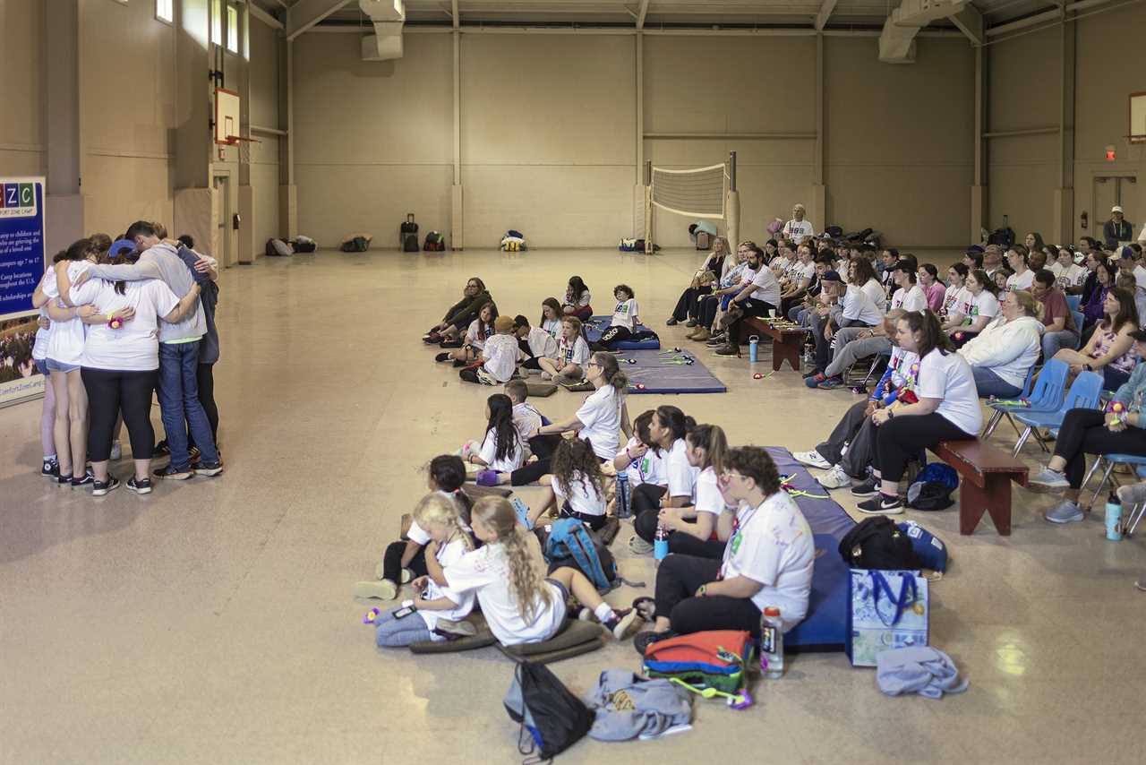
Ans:
[[[281,14],[303,0],[251,0],[264,10]],[[639,0],[458,0],[463,24],[586,24],[631,25]],[[900,0],[837,0],[832,28],[879,28]],[[1058,7],[1054,0],[973,0],[987,25],[997,25]],[[659,25],[810,26],[821,0],[650,0],[646,28]],[[450,23],[450,0],[406,0],[407,23]],[[368,23],[351,0],[325,23]],[[939,26],[950,26],[939,22]]]

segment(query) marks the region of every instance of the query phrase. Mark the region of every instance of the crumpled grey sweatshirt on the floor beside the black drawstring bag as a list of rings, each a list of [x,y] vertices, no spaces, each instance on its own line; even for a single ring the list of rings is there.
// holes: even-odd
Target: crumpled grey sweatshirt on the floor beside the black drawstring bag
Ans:
[[[597,719],[589,735],[599,741],[657,736],[692,720],[692,697],[669,680],[645,680],[628,670],[605,670],[584,697]]]

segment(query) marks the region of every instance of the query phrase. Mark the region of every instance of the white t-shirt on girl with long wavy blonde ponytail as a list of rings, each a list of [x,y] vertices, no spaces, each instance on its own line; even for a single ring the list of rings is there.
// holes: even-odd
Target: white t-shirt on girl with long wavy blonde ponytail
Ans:
[[[531,547],[531,554],[539,559],[540,568],[541,547],[537,538],[527,534],[526,544]],[[447,565],[442,573],[447,586],[454,592],[477,594],[489,631],[502,645],[548,640],[565,623],[564,593],[551,581],[540,583],[541,587],[549,588],[549,604],[544,603],[539,593],[534,600],[533,618],[526,620],[513,593],[504,545],[493,542],[470,551],[457,562]]]

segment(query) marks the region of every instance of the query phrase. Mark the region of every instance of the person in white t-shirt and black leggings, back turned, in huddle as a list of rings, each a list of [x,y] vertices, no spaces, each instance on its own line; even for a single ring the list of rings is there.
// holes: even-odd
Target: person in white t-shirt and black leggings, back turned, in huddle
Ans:
[[[123,257],[117,260],[127,260]],[[113,261],[115,263],[115,261]],[[68,294],[72,305],[91,306],[83,321],[88,325],[81,356],[84,388],[91,409],[87,456],[92,461],[92,494],[102,497],[119,487],[108,474],[111,440],[117,419],[132,442],[135,475],[127,489],[136,494],[151,492],[151,395],[158,382],[159,322],[178,323],[199,305],[199,286],[193,284],[182,299],[158,279],[110,282],[89,279]]]

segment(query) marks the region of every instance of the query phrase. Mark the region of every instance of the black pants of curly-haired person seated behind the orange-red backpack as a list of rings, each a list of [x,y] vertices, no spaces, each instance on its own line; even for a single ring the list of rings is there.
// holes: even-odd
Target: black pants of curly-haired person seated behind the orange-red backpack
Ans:
[[[700,585],[716,581],[721,562],[692,555],[669,555],[657,569],[657,616],[667,616],[673,632],[747,630],[760,637],[760,609],[751,598],[694,598]]]

